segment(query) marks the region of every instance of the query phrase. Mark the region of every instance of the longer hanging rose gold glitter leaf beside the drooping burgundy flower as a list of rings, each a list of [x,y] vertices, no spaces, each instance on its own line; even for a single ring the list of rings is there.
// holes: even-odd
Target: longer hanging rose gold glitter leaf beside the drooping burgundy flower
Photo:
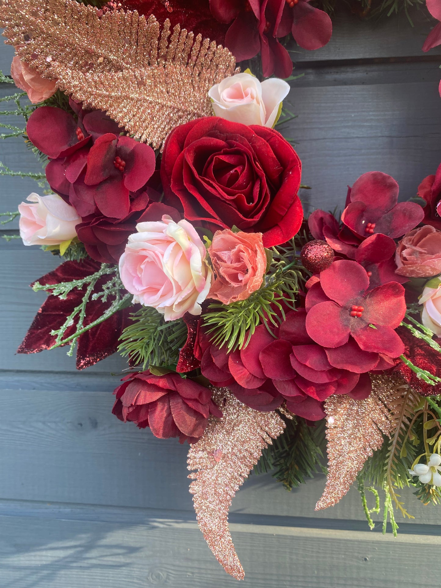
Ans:
[[[245,573],[228,529],[228,510],[262,449],[283,433],[285,423],[274,411],[245,406],[226,388],[216,389],[213,399],[223,417],[210,417],[204,435],[188,452],[190,492],[208,546],[226,572],[243,580]]]

